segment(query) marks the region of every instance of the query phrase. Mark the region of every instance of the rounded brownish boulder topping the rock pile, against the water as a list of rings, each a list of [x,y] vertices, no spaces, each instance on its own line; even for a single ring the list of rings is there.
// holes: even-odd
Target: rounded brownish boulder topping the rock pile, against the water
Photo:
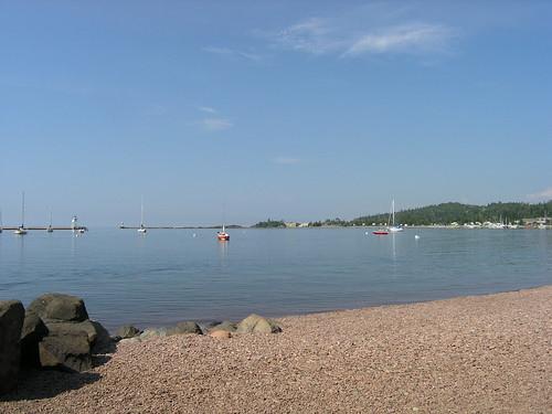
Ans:
[[[43,321],[82,322],[88,319],[83,299],[71,295],[44,294],[34,299],[26,310],[36,314]]]

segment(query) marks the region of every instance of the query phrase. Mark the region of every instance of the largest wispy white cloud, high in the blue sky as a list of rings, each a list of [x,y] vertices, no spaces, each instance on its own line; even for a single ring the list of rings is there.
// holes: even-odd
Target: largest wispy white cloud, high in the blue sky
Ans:
[[[344,22],[310,18],[270,35],[275,45],[314,55],[360,56],[444,52],[456,32],[443,24],[403,23],[352,30]]]

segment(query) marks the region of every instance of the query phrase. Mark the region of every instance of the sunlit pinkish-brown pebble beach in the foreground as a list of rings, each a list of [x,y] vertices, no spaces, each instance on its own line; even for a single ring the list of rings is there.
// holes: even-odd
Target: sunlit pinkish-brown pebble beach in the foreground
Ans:
[[[1,413],[552,413],[552,286],[124,343],[33,373]]]

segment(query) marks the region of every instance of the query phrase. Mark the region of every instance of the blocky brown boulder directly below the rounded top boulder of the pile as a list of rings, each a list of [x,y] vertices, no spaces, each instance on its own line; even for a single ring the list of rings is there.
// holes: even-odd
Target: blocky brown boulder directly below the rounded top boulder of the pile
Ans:
[[[92,368],[91,346],[85,331],[47,336],[39,343],[39,354],[43,368],[70,372],[83,372]]]

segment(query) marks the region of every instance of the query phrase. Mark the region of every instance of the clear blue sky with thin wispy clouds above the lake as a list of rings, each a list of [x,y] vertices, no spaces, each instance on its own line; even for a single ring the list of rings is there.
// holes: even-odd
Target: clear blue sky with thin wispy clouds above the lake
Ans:
[[[552,199],[550,1],[0,0],[3,224]]]

